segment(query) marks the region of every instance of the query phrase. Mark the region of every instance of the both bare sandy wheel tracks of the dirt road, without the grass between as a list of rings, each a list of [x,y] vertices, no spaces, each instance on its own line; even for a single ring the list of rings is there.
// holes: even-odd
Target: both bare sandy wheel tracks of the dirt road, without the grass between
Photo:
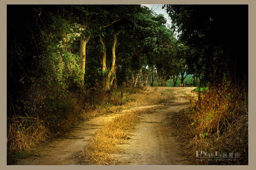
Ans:
[[[164,87],[159,87],[164,88]],[[122,160],[122,165],[182,165],[189,164],[186,157],[182,156],[182,149],[171,136],[168,116],[185,107],[184,92],[190,93],[191,88],[171,88],[174,98],[166,109],[159,109],[153,114],[146,114],[137,130],[131,136],[128,144],[121,145],[124,153],[115,155]],[[134,107],[134,109],[153,108],[152,106]],[[127,110],[126,110],[127,111]],[[124,113],[124,112],[122,112]],[[120,113],[120,114],[122,114]],[[74,127],[65,138],[55,139],[52,142],[36,148],[33,157],[17,162],[17,165],[76,165],[73,159],[75,154],[91,142],[92,135],[113,118],[120,114],[107,114],[93,118]]]

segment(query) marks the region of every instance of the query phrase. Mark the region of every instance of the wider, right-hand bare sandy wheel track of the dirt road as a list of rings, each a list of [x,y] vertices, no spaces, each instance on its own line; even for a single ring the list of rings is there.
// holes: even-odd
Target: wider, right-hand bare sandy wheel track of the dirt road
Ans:
[[[168,117],[187,107],[184,93],[190,94],[194,88],[173,89],[173,99],[165,109],[152,114],[144,114],[141,122],[131,133],[126,144],[119,145],[121,154],[115,154],[118,165],[191,165],[192,162],[183,154],[179,143],[172,136]]]

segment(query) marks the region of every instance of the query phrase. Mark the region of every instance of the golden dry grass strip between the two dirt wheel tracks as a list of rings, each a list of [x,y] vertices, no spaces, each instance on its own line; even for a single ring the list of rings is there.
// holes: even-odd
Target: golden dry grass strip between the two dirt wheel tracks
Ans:
[[[128,138],[139,120],[139,114],[150,113],[160,107],[163,106],[126,112],[106,123],[95,133],[93,141],[84,148],[79,162],[86,165],[109,165],[117,162],[112,154],[118,152],[117,144],[122,144]]]

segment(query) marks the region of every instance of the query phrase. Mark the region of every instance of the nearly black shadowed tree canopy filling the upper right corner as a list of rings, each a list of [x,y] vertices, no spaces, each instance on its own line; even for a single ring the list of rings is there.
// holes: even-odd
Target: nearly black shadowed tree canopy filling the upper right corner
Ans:
[[[197,62],[202,65],[205,79],[214,77],[221,81],[223,69],[233,66],[225,72],[235,74],[243,82],[248,64],[241,56],[248,56],[248,36],[247,31],[238,32],[248,28],[247,5],[164,5],[163,8],[172,18],[172,27],[180,33],[180,40],[201,51]]]

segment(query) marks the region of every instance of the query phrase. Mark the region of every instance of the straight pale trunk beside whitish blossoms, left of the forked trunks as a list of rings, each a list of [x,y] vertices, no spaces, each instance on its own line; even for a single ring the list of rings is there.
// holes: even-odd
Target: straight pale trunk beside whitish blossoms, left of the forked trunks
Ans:
[[[79,66],[80,69],[83,71],[83,75],[81,77],[82,82],[84,83],[84,76],[85,76],[85,48],[86,43],[88,42],[88,39],[85,39],[85,36],[82,36],[80,39],[80,49],[79,49]]]

